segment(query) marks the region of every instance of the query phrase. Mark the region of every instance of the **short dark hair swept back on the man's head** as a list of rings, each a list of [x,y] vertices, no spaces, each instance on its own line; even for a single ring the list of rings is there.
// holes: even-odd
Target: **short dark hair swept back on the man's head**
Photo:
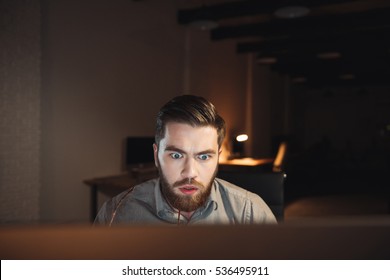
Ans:
[[[165,126],[169,122],[189,124],[193,127],[211,126],[217,130],[218,146],[221,147],[226,134],[224,119],[215,106],[203,97],[195,95],[176,96],[159,111],[156,121],[156,145],[165,136]]]

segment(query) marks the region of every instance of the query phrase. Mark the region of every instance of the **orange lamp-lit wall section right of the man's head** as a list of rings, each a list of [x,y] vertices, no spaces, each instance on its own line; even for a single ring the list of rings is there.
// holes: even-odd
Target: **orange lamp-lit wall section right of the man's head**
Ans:
[[[195,94],[209,92],[224,117],[228,129],[225,150],[231,148],[235,134],[247,133],[246,156],[274,157],[273,137],[290,131],[285,78],[257,64],[255,56],[237,54],[234,40],[210,42],[208,33],[193,30],[190,41],[190,88]]]

